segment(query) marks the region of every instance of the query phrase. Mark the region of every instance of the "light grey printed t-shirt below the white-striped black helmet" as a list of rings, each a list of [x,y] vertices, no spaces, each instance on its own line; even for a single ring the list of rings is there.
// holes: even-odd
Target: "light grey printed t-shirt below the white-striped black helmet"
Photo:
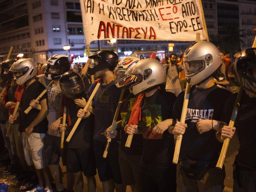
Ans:
[[[50,130],[51,124],[56,121],[59,117],[59,109],[61,105],[62,92],[59,85],[52,85],[47,91],[48,96],[48,131],[49,135],[61,137],[59,129],[56,131]]]

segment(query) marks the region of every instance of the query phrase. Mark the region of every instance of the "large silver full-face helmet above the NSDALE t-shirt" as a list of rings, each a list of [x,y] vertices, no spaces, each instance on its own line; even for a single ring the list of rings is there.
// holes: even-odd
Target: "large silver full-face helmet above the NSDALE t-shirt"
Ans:
[[[221,53],[211,42],[198,41],[189,45],[183,57],[184,72],[190,85],[198,85],[213,76],[221,67]]]

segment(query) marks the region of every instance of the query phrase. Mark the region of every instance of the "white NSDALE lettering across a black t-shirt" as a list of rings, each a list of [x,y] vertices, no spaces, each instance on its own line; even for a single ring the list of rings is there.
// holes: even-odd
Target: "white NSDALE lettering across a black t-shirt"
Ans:
[[[190,109],[187,108],[186,120],[197,123],[198,120],[212,119],[214,109]]]

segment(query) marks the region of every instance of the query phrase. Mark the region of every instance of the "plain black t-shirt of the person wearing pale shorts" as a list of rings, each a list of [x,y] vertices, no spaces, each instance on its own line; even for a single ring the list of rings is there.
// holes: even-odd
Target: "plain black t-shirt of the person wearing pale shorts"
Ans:
[[[31,100],[36,99],[41,92],[45,89],[45,86],[38,81],[33,82],[30,86],[26,87],[21,97],[21,127],[20,132],[25,132],[25,129],[31,124],[31,122],[37,117],[39,110],[32,108],[31,111],[26,114],[24,111],[30,106]],[[47,94],[44,94],[40,101],[47,99]],[[47,103],[47,102],[46,102]],[[48,121],[45,117],[37,126],[34,127],[32,133],[46,133],[48,127]]]

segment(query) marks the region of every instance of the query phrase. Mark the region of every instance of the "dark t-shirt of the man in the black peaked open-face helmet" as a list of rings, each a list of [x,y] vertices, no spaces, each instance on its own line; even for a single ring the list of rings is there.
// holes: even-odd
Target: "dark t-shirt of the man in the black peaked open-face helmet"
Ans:
[[[96,83],[93,83],[87,92],[87,99],[91,96]],[[95,113],[95,131],[93,138],[100,141],[107,141],[102,135],[111,126],[115,116],[115,109],[121,94],[121,89],[115,86],[114,81],[108,85],[100,85],[93,99],[93,109]]]

